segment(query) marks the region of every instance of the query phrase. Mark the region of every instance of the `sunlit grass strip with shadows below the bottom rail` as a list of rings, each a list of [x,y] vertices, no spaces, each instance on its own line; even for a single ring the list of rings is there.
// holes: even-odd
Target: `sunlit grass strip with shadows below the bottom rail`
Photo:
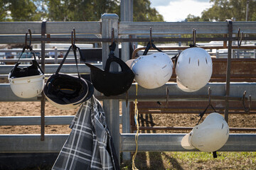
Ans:
[[[255,169],[256,152],[139,152],[135,164],[139,170],[164,169]],[[132,169],[132,162],[121,164],[122,170]]]

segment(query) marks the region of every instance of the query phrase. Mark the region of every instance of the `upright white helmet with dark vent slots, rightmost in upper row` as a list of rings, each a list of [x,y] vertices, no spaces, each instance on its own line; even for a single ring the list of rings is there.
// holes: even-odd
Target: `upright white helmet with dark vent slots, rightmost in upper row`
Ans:
[[[213,62],[206,50],[190,47],[183,50],[176,63],[178,88],[186,92],[198,91],[206,86],[213,72]]]

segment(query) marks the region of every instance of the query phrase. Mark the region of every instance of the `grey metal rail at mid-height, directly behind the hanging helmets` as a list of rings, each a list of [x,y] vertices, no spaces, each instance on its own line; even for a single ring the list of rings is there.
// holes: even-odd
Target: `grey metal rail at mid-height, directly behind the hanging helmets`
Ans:
[[[176,83],[166,83],[157,89],[144,89],[138,86],[138,96],[135,95],[135,84],[129,88],[128,98],[125,94],[119,96],[103,96],[99,91],[95,90],[95,97],[99,100],[103,99],[119,99],[120,101],[134,101],[134,98],[138,98],[138,101],[166,101],[166,88],[169,89],[169,101],[208,101],[208,87],[212,90],[212,101],[223,101],[225,99],[225,83],[208,83],[202,89],[187,93],[178,89]],[[252,101],[256,101],[256,83],[231,83],[230,84],[230,98],[228,100],[240,100],[244,91],[247,91],[246,98],[249,95],[252,96]],[[11,91],[10,84],[0,84],[0,101],[38,101],[38,98],[18,98]],[[217,96],[215,98],[214,96]]]

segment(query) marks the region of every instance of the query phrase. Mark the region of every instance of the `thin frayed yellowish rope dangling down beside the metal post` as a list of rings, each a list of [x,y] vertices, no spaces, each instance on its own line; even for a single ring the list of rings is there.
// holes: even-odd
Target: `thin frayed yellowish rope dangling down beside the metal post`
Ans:
[[[138,95],[138,84],[136,85],[136,96]],[[138,111],[138,106],[137,106],[137,98],[135,98],[135,108],[134,108],[134,114],[136,116],[136,124],[137,124],[137,132],[135,135],[135,143],[136,143],[136,150],[134,155],[132,156],[132,170],[138,170],[137,167],[135,166],[135,158],[138,152],[138,138],[139,138],[139,120],[138,120],[138,115],[139,115],[139,111]]]

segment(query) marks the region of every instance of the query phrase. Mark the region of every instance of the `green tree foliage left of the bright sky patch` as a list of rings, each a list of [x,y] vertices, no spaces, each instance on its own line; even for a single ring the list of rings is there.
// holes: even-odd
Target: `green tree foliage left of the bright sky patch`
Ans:
[[[134,1],[134,21],[164,21],[149,0]],[[120,0],[0,0],[0,21],[99,21],[120,16]]]

